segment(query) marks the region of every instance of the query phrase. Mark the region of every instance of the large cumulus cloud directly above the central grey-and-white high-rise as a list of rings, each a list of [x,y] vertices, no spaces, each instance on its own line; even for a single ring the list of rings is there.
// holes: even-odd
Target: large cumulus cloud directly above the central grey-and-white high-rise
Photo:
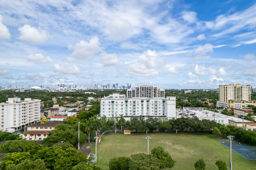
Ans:
[[[164,65],[164,59],[156,51],[148,50],[129,64],[128,71],[131,76],[155,77]]]

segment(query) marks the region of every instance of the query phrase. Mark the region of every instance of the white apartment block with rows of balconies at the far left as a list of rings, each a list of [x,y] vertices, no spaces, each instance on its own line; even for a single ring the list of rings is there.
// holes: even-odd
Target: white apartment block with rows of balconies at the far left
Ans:
[[[40,121],[40,101],[25,98],[9,98],[5,103],[0,103],[1,122],[0,129],[6,132],[13,132],[23,125]]]

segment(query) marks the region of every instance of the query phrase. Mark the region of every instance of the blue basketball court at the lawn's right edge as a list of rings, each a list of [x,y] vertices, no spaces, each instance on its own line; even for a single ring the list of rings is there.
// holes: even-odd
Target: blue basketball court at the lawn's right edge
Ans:
[[[230,148],[230,142],[220,142]],[[250,161],[256,161],[256,149],[239,142],[232,142],[232,150]]]

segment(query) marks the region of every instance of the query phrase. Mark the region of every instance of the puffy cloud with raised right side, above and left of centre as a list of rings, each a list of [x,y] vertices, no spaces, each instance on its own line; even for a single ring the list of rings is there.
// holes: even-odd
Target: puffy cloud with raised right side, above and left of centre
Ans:
[[[101,51],[99,48],[100,42],[98,37],[93,37],[89,42],[81,40],[80,43],[72,46],[68,46],[69,49],[73,49],[72,56],[76,58],[89,58],[91,55]]]

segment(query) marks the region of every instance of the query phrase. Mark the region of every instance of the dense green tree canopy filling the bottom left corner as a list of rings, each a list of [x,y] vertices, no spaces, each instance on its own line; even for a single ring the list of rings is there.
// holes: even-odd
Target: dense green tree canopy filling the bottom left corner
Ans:
[[[87,165],[87,155],[78,152],[70,143],[49,147],[22,139],[7,141],[0,146],[0,152],[13,152],[2,158],[2,170],[102,170]]]

